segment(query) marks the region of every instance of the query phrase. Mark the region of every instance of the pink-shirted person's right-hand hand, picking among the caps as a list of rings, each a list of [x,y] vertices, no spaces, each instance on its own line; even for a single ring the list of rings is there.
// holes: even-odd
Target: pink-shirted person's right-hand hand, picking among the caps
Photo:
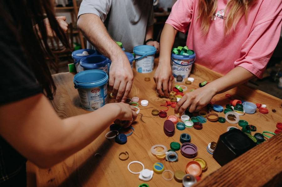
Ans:
[[[186,93],[177,103],[174,112],[183,114],[188,107],[191,113],[200,111],[212,100],[216,93],[216,90],[208,85]]]

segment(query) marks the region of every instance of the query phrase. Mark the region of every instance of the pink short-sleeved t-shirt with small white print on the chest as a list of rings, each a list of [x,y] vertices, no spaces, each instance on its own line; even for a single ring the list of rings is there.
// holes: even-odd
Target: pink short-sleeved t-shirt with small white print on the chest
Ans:
[[[224,10],[228,0],[218,0],[206,36],[201,32],[197,0],[177,0],[166,23],[187,32],[186,45],[196,53],[196,63],[221,74],[241,66],[262,78],[279,41],[282,26],[282,0],[257,0],[229,35],[224,36]]]

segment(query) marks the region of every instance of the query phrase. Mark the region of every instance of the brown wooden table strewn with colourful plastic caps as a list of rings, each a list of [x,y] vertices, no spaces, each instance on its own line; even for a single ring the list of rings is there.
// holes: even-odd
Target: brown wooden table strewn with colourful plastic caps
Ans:
[[[158,60],[155,61],[154,69],[156,69]],[[131,174],[127,169],[128,163],[133,160],[142,162],[145,168],[150,170],[152,170],[155,162],[161,162],[165,165],[166,170],[185,171],[186,164],[192,159],[185,158],[180,154],[180,151],[177,151],[178,162],[171,163],[158,160],[150,153],[152,145],[162,144],[169,148],[170,142],[179,142],[180,134],[184,132],[191,135],[191,142],[198,147],[197,157],[206,160],[208,165],[207,171],[202,173],[201,181],[196,186],[262,186],[281,183],[282,133],[221,167],[212,158],[212,155],[207,153],[206,146],[212,141],[217,142],[219,135],[226,132],[228,126],[233,125],[227,122],[221,124],[207,121],[203,124],[202,130],[186,128],[180,131],[175,129],[175,135],[167,137],[163,131],[165,119],[151,115],[152,109],[165,109],[160,105],[168,100],[156,95],[154,72],[141,74],[137,73],[135,68],[133,72],[134,82],[129,97],[138,96],[140,100],[147,99],[149,106],[140,106],[141,110],[137,122],[133,125],[135,131],[133,135],[128,137],[128,142],[125,145],[119,145],[114,141],[107,140],[105,138],[105,134],[109,131],[109,128],[107,128],[90,145],[50,169],[39,169],[28,162],[28,184],[30,186],[138,186],[144,182],[138,179],[138,175]],[[52,105],[61,118],[88,112],[80,108],[78,92],[72,82],[73,76],[71,73],[60,73],[53,76],[57,92]],[[220,76],[212,70],[195,64],[191,74],[191,77],[195,78],[195,82],[188,86],[188,91],[197,89],[199,82],[205,80],[209,82]],[[145,82],[144,77],[150,77],[151,81]],[[252,115],[240,116],[240,119],[255,125],[257,132],[262,133],[264,130],[274,132],[276,123],[282,121],[282,102],[280,99],[244,85],[226,93],[231,94],[234,99],[267,105],[269,114],[261,114],[257,109],[256,113]],[[226,93],[216,95],[212,102],[225,107],[229,103],[229,99],[225,97]],[[275,109],[276,112],[272,112],[272,109]],[[141,114],[143,115],[142,121],[140,119]],[[170,107],[168,115],[173,114],[173,108]],[[220,116],[224,116],[224,114],[221,113]],[[93,119],[93,125],[97,120],[99,119]],[[238,124],[234,126],[240,128]],[[129,159],[121,161],[118,155],[124,151],[129,153]],[[102,156],[95,156],[96,153]],[[132,169],[137,171],[140,167],[139,165],[132,165]],[[166,181],[162,178],[162,175],[155,173],[153,179],[146,183],[150,187],[182,186],[175,180]]]

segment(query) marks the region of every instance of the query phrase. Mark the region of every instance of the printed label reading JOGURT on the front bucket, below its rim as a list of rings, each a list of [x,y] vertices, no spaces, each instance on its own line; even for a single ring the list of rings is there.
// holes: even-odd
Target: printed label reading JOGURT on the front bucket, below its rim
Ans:
[[[107,84],[95,88],[78,88],[81,107],[87,111],[95,111],[108,102]]]

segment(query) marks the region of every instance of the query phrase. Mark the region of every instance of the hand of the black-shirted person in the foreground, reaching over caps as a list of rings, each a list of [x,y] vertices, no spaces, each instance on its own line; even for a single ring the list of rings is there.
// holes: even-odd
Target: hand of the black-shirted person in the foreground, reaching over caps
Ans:
[[[123,102],[112,104],[119,107],[119,114],[117,120],[114,122],[115,124],[119,124],[124,128],[127,128],[133,123],[133,121],[136,120],[137,113],[135,112],[135,108],[133,106]]]

